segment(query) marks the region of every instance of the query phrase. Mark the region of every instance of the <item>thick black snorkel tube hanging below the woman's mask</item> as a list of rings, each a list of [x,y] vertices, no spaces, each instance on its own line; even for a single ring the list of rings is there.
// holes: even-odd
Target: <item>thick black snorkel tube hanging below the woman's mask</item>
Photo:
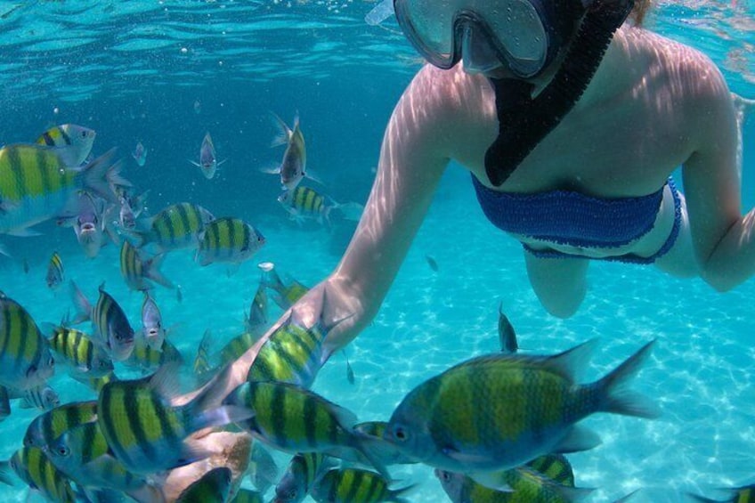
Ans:
[[[577,0],[579,1],[579,0]],[[499,120],[498,138],[485,152],[485,173],[498,187],[540,141],[558,126],[585,92],[613,34],[634,0],[595,0],[589,5],[561,67],[538,96],[534,85],[516,78],[491,78]]]

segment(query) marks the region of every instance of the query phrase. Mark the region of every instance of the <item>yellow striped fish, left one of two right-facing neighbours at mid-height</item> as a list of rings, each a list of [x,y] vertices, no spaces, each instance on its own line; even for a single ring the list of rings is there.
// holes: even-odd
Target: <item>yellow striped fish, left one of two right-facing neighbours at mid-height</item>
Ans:
[[[158,253],[199,246],[199,235],[207,223],[215,220],[207,209],[192,203],[178,203],[164,208],[151,220],[146,230],[127,231],[137,247],[153,243]]]

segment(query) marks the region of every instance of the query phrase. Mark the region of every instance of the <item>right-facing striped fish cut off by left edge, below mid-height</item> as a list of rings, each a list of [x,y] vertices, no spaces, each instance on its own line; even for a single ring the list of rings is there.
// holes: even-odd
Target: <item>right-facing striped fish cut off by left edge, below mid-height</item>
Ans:
[[[0,385],[20,390],[53,376],[50,345],[26,309],[0,292]]]

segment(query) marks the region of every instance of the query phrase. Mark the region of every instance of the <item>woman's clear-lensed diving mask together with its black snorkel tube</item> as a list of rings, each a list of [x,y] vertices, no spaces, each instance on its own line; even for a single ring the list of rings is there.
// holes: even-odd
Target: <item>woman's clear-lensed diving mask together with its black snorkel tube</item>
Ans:
[[[404,35],[435,67],[451,69],[463,59],[467,71],[503,67],[511,75],[489,77],[499,136],[485,153],[485,171],[495,186],[572,110],[634,6],[634,0],[393,2]],[[567,46],[556,75],[532,98],[535,85],[529,79]]]

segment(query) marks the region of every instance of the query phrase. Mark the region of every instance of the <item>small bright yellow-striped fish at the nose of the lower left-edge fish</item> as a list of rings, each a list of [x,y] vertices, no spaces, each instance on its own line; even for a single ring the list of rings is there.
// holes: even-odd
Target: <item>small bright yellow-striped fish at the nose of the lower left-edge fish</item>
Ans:
[[[102,377],[113,371],[110,356],[81,330],[53,328],[50,347],[71,365],[77,377]]]

